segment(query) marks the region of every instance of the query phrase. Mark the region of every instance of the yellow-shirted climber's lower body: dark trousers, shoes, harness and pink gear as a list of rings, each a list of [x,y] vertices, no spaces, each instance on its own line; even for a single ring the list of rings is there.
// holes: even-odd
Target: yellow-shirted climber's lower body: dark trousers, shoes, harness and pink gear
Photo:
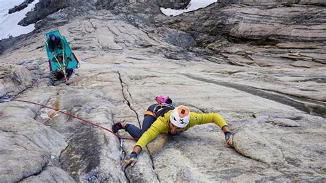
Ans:
[[[127,122],[119,121],[112,126],[112,131],[114,133],[117,133],[120,129],[124,129],[133,138],[140,138],[140,136],[142,136],[142,133],[149,129],[149,127],[151,127],[153,122],[158,117],[163,117],[166,112],[174,109],[172,100],[171,98],[169,98],[169,96],[159,95],[156,96],[155,100],[157,101],[157,103],[150,105],[144,114],[144,120],[142,121],[142,129],[139,129],[138,127],[135,127],[135,125],[131,125]]]

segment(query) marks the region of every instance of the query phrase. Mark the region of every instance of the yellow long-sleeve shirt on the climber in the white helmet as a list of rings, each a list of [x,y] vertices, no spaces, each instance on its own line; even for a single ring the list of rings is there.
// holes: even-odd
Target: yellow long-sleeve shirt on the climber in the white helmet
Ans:
[[[138,139],[135,146],[139,146],[142,149],[151,142],[154,138],[156,138],[160,133],[169,133],[170,131],[170,116],[172,111],[167,112],[163,117],[159,117],[153,122],[151,127],[147,131],[145,131],[140,139]],[[208,113],[208,114],[197,114],[195,112],[191,112],[190,122],[186,127],[184,127],[181,131],[185,131],[195,125],[202,125],[210,122],[215,122],[217,126],[220,128],[228,125],[226,121],[216,113]]]

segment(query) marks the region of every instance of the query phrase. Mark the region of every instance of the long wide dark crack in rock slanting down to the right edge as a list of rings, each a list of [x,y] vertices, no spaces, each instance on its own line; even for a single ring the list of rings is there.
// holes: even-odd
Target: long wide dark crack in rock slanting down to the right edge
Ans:
[[[257,89],[254,87],[250,87],[248,85],[240,85],[240,84],[235,84],[235,83],[226,83],[223,81],[217,81],[217,80],[209,80],[206,78],[199,78],[197,76],[191,76],[189,74],[183,74],[184,76],[187,76],[188,78],[192,78],[194,80],[199,80],[199,81],[203,81],[206,83],[213,83],[216,85],[222,85],[224,87],[230,87],[233,89],[238,89],[242,92],[247,92],[248,94],[253,94],[255,96],[260,96],[262,98],[267,98],[269,100],[274,100],[277,103],[282,103],[284,105],[289,105],[291,107],[294,107],[300,111],[304,111],[307,112],[308,114],[317,114],[318,116],[322,116],[322,117],[326,117],[325,111],[323,111],[323,109],[314,109],[314,107],[316,108],[316,106],[312,106],[312,107],[307,107],[305,105],[305,103],[303,102],[299,102],[296,101],[292,98],[290,98],[291,96],[288,94],[283,94],[283,96],[281,94],[272,94],[269,92],[264,92],[262,89]],[[301,101],[303,99],[301,98]],[[311,101],[307,101],[307,103],[312,103]],[[325,108],[324,105],[322,108]]]

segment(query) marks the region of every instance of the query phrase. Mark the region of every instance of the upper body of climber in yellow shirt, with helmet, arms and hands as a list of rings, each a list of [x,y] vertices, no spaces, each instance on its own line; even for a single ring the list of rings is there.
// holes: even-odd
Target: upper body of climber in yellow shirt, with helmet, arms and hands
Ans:
[[[142,134],[140,139],[136,142],[135,147],[133,147],[131,154],[122,161],[122,170],[125,171],[129,164],[134,166],[142,149],[160,133],[175,134],[186,131],[195,125],[202,125],[209,122],[215,122],[215,124],[224,131],[226,143],[232,147],[232,133],[228,124],[219,114],[197,114],[195,112],[190,112],[188,107],[180,105],[168,111],[164,116],[157,118],[155,122],[153,122],[153,125]]]

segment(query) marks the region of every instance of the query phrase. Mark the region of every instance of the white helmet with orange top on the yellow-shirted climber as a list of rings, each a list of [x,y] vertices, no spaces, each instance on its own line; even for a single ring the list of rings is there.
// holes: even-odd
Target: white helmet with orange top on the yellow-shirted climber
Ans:
[[[188,107],[180,105],[173,109],[170,116],[170,121],[173,125],[179,128],[184,128],[188,125],[190,121],[190,111]]]

